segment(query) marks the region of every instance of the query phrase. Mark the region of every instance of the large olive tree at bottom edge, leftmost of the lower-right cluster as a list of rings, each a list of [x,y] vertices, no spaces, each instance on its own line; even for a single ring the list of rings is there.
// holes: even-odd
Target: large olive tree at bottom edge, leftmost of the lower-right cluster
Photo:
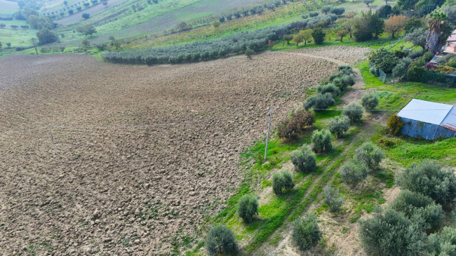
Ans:
[[[426,234],[403,213],[387,209],[359,221],[359,238],[367,255],[421,255]]]

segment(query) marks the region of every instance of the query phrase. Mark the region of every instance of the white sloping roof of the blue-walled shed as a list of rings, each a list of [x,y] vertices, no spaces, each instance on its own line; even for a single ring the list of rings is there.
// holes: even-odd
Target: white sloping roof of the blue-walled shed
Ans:
[[[401,109],[398,116],[440,126],[452,108],[454,108],[452,105],[413,99]]]

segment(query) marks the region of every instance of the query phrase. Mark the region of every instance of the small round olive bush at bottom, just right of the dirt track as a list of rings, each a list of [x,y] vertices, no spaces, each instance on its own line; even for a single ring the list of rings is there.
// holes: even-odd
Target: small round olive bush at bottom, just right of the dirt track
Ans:
[[[315,215],[300,217],[293,222],[291,238],[300,250],[309,250],[321,240],[322,234]]]

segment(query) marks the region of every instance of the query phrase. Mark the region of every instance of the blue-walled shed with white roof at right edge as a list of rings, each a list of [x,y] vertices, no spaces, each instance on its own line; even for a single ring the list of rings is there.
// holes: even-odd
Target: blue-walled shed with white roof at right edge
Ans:
[[[398,113],[405,123],[401,133],[426,140],[456,137],[456,107],[424,100],[410,100]]]

